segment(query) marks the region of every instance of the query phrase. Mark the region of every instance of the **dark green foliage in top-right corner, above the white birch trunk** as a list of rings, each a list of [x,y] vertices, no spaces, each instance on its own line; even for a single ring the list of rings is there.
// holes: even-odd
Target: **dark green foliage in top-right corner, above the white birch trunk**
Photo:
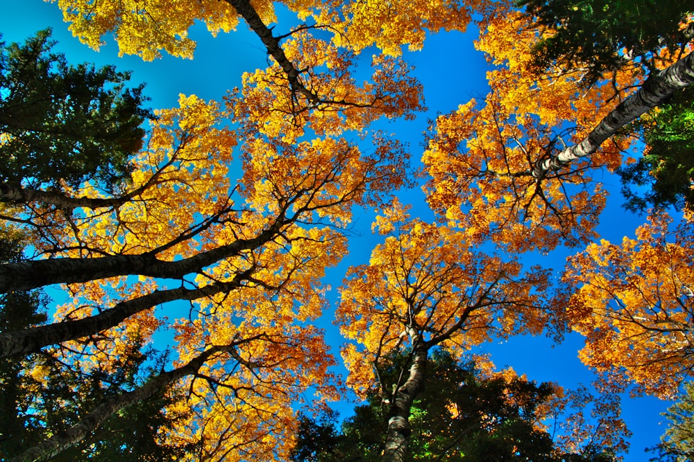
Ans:
[[[691,0],[521,0],[537,24],[554,35],[536,48],[538,71],[556,62],[563,69],[586,68],[584,85],[640,58],[654,69],[656,51],[688,42],[679,24],[694,11]]]

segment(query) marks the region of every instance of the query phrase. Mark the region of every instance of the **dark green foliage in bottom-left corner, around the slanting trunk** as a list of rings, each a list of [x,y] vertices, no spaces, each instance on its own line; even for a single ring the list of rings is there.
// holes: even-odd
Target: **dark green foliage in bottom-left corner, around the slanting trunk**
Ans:
[[[51,434],[65,432],[101,402],[138,387],[165,362],[166,355],[133,350],[119,359],[115,371],[96,368],[85,373],[78,364],[63,364],[49,353],[22,359],[22,367],[15,366],[15,386],[6,389],[0,401],[3,415],[14,419],[11,427],[3,427],[0,452],[18,455]],[[33,375],[32,369],[40,369],[42,377]],[[51,460],[154,462],[180,458],[194,447],[160,445],[158,438],[160,429],[183,418],[161,411],[179,399],[181,396],[170,390],[126,407]]]

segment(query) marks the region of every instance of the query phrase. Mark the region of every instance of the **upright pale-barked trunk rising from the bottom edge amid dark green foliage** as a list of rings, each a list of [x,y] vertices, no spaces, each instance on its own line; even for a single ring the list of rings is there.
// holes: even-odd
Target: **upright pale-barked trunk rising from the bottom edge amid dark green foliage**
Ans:
[[[388,429],[383,452],[383,460],[387,462],[405,461],[410,433],[410,409],[412,409],[414,398],[424,389],[426,380],[427,348],[421,341],[413,343],[415,344],[414,355],[407,381],[396,390],[388,414]]]

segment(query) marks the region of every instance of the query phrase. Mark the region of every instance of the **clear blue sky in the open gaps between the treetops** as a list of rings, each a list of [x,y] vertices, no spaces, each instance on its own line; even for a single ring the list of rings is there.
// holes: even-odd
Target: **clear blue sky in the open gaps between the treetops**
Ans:
[[[103,46],[99,53],[80,44],[67,30],[67,24],[62,22],[62,13],[55,3],[40,0],[0,0],[0,3],[0,30],[6,42],[23,41],[36,30],[51,26],[53,39],[58,41],[57,49],[64,52],[70,62],[115,64],[121,71],[132,70],[133,85],[146,82],[145,93],[151,98],[153,108],[174,107],[180,93],[221,100],[227,89],[240,85],[244,71],[266,65],[266,53],[260,40],[243,25],[235,33],[220,34],[214,39],[203,26],[196,26],[191,33],[192,38],[198,41],[194,60],[164,56],[154,62],[142,62],[138,57],[118,57],[117,45],[112,41]],[[276,29],[276,33],[285,31],[286,28],[281,25]],[[437,113],[455,109],[471,97],[486,94],[486,63],[482,53],[473,48],[472,40],[475,38],[475,31],[434,35],[428,38],[422,52],[405,53],[405,58],[416,66],[415,73],[423,82],[425,102],[430,109],[428,113],[420,114],[416,121],[401,121],[382,127],[409,142],[414,163],[418,163],[423,150],[422,132],[428,125],[428,119],[434,118]],[[642,220],[627,215],[620,208],[618,182],[609,176],[604,177],[604,181],[613,193],[598,231],[604,238],[617,241],[622,236],[632,235],[634,227]],[[421,190],[409,190],[400,196],[403,202],[414,204],[415,213],[431,219],[431,213],[423,205]],[[350,241],[350,256],[330,271],[326,281],[332,287],[339,285],[348,265],[366,263],[371,249],[379,242],[380,238],[371,236],[371,218],[371,214],[364,213],[355,222],[356,236]],[[560,269],[565,257],[566,252],[558,251],[546,257],[543,264]],[[328,314],[324,327],[329,330],[328,335],[337,347],[341,341],[337,328],[329,321]],[[517,337],[502,344],[486,345],[483,350],[493,355],[498,366],[513,366],[518,373],[527,374],[530,380],[556,381],[564,387],[575,387],[578,383],[589,384],[592,380],[591,373],[577,359],[580,346],[578,336],[569,336],[559,346],[552,346],[544,338]],[[625,420],[634,432],[632,449],[625,458],[627,462],[649,459],[650,454],[644,454],[643,448],[658,443],[659,436],[666,428],[663,423],[665,419],[659,413],[667,405],[669,403],[654,398],[625,399]]]

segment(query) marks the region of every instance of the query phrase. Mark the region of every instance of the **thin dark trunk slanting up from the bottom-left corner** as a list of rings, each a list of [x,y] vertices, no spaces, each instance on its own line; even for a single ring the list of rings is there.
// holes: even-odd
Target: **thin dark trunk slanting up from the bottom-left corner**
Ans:
[[[39,443],[23,454],[10,459],[9,462],[39,462],[46,461],[68,447],[82,441],[88,434],[94,431],[99,425],[103,424],[112,414],[135,402],[151,398],[156,393],[160,393],[165,387],[173,384],[186,375],[194,374],[214,353],[229,350],[231,346],[213,346],[209,350],[192,359],[185,366],[181,366],[173,371],[162,372],[160,375],[149,380],[138,389],[129,391],[115,398],[107,400],[91,411],[85,418],[67,429],[66,432],[51,436],[43,443]]]

